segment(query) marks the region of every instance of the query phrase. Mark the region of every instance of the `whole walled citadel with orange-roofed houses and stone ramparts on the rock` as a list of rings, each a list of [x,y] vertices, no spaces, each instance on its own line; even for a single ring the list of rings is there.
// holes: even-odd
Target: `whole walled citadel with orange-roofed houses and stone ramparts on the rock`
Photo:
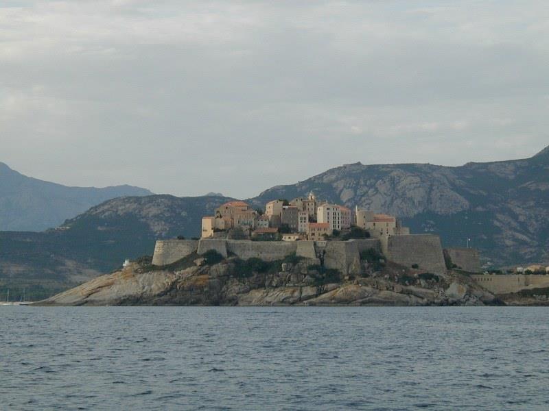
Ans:
[[[318,201],[312,192],[292,201],[269,201],[264,210],[244,201],[224,203],[213,216],[202,218],[200,239],[157,241],[152,264],[166,266],[211,250],[223,258],[267,262],[294,255],[348,278],[364,271],[361,255],[372,249],[419,273],[444,275],[449,269],[458,269],[495,294],[549,286],[549,275],[530,271],[482,273],[476,249],[443,249],[439,236],[410,234],[396,216]]]

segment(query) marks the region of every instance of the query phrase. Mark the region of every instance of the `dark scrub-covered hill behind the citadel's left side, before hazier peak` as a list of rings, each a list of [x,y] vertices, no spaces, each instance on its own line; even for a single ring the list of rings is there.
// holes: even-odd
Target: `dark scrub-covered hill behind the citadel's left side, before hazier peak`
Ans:
[[[203,215],[231,199],[152,195],[106,201],[47,232],[0,232],[0,299],[42,299],[152,254],[158,238],[200,235]]]

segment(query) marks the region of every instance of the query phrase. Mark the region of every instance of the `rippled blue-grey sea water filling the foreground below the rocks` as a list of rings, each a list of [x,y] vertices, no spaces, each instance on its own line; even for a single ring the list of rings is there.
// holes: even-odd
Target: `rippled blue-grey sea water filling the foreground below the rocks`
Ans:
[[[0,410],[549,410],[548,308],[0,307]]]

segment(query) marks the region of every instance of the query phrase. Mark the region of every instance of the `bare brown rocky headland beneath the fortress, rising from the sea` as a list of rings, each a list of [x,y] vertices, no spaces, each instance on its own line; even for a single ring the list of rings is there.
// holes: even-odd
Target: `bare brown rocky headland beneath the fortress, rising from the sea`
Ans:
[[[122,271],[42,301],[42,305],[176,306],[482,306],[498,303],[489,292],[459,274],[421,275],[388,264],[365,277],[320,275],[307,260],[285,263],[281,271],[243,275],[237,260],[211,266],[148,271],[132,264]],[[283,271],[282,271],[283,270]]]

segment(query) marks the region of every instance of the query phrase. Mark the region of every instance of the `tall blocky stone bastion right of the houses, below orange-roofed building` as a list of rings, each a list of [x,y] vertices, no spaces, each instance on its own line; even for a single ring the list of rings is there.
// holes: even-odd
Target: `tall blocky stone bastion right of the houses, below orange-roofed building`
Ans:
[[[446,272],[441,239],[432,234],[390,236],[387,239],[386,257],[408,267],[418,264],[420,269],[430,273]]]

